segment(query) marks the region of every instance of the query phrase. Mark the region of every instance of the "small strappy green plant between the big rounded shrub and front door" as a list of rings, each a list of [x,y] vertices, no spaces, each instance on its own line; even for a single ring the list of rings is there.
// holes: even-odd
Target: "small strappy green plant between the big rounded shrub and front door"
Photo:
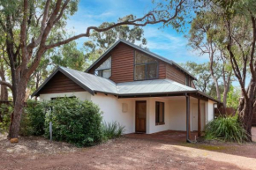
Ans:
[[[104,122],[102,127],[105,139],[121,137],[124,134],[124,126],[117,122]]]

